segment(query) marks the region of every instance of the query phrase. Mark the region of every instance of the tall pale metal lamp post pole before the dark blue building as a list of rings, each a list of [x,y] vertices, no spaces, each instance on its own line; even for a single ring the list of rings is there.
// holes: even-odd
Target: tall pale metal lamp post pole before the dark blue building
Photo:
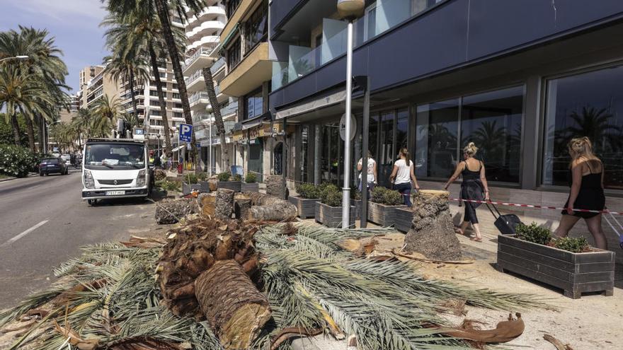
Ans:
[[[346,125],[344,131],[344,185],[342,187],[342,228],[350,226],[350,99],[353,95],[353,21],[348,21],[346,37]]]

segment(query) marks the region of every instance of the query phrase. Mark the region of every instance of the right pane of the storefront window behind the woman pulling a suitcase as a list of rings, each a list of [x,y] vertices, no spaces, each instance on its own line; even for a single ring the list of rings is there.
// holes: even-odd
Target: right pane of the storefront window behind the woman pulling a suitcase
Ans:
[[[463,98],[460,148],[476,144],[489,181],[519,182],[522,110],[522,86]]]

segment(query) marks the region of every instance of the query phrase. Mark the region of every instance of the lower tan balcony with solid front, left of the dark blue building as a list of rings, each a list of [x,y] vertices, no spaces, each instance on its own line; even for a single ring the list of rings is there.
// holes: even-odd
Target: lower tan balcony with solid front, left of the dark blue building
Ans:
[[[261,42],[223,78],[221,91],[236,97],[250,93],[264,81],[270,80],[272,69],[273,61],[268,58],[268,42]]]

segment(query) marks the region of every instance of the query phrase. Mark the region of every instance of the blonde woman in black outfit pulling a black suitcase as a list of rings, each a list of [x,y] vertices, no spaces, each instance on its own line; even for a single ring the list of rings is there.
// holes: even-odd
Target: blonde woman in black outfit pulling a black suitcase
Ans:
[[[470,142],[465,148],[463,148],[464,161],[457,164],[455,173],[452,177],[450,177],[450,180],[446,182],[444,188],[447,189],[450,187],[450,184],[455,182],[459,175],[462,175],[463,182],[461,182],[461,199],[488,201],[489,189],[486,182],[484,164],[474,158],[477,151],[478,148],[474,145],[474,142]],[[476,217],[476,208],[478,208],[480,204],[474,202],[464,202],[463,204],[465,206],[465,216],[461,227],[457,228],[457,231],[458,233],[464,235],[465,229],[471,223],[471,226],[474,228],[474,233],[476,233],[476,237],[471,238],[471,240],[481,242],[482,236],[480,235],[478,217]]]

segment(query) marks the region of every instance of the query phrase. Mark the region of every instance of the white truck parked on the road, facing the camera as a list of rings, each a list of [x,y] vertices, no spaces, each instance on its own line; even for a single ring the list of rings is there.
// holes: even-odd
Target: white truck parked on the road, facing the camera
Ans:
[[[88,139],[82,156],[82,199],[149,197],[154,185],[146,141]]]

